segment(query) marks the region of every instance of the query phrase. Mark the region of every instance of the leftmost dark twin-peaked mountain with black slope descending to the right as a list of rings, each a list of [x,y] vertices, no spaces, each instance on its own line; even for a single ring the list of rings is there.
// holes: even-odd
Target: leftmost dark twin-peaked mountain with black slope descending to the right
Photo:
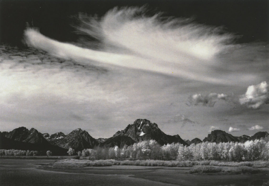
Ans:
[[[26,136],[28,132],[30,134]],[[28,130],[25,127],[11,132],[0,132],[0,149],[37,150],[41,155],[46,155],[47,150],[52,151],[52,154],[56,156],[67,154],[67,149],[50,144],[36,129]]]

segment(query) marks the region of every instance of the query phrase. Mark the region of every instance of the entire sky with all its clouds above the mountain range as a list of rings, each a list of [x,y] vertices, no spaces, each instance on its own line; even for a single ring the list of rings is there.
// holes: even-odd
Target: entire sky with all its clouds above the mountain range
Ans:
[[[267,1],[1,1],[0,131],[269,132]]]

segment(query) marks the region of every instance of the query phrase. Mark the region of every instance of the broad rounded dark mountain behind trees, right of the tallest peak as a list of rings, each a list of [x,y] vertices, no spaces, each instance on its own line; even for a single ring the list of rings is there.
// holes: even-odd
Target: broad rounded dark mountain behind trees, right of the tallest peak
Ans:
[[[208,134],[208,136],[204,138],[203,142],[239,142],[239,139],[225,131],[213,130],[211,134]]]

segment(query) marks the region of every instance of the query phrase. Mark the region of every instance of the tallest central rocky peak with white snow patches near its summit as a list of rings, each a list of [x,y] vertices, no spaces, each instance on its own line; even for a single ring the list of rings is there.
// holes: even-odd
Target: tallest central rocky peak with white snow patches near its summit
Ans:
[[[118,131],[115,135],[113,135],[113,137],[117,136],[129,136],[134,142],[153,139],[160,145],[167,143],[181,143],[183,145],[187,145],[187,143],[181,139],[179,135],[167,135],[158,128],[156,123],[151,123],[147,119],[135,120],[132,125],[129,124],[124,130]],[[112,140],[113,137],[109,139]]]

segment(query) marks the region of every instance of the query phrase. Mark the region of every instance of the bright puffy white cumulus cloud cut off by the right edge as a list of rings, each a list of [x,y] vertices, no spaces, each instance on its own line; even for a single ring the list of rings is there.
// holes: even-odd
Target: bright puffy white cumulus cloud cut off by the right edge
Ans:
[[[245,94],[239,98],[241,105],[248,108],[257,109],[261,105],[269,102],[269,86],[266,81],[257,85],[250,85]]]

